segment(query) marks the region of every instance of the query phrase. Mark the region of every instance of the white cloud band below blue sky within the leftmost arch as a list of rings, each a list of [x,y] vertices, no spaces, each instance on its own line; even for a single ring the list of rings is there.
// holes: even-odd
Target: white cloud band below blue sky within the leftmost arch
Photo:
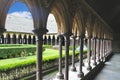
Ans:
[[[24,17],[24,18],[32,18],[31,13],[27,11],[13,12],[13,13],[10,13],[9,15]]]

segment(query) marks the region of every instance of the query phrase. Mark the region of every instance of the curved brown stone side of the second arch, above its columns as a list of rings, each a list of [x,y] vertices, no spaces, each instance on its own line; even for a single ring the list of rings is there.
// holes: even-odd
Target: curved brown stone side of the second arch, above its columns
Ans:
[[[57,22],[58,34],[69,32],[66,9],[62,1],[54,3],[50,9],[50,13],[54,15]]]

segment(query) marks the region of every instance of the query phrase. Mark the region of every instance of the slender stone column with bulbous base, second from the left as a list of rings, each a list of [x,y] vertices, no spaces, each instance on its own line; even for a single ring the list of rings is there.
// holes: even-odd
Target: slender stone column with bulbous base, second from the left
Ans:
[[[64,79],[64,75],[62,73],[62,35],[59,35],[59,72],[57,74],[58,79]]]

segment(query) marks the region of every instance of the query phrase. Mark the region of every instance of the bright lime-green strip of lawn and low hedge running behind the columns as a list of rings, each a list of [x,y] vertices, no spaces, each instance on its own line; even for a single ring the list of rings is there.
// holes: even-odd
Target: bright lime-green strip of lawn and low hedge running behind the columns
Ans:
[[[86,53],[87,51],[84,51]],[[76,52],[78,55],[79,52]],[[72,55],[72,51],[70,50],[70,56]],[[63,50],[63,58],[65,57],[65,50]],[[46,49],[43,52],[43,63],[58,60],[59,58],[59,51],[54,49]],[[28,57],[21,57],[21,58],[12,58],[12,59],[5,59],[0,60],[0,72],[2,71],[9,71],[15,68],[25,67],[29,65],[36,64],[36,56],[28,56]]]

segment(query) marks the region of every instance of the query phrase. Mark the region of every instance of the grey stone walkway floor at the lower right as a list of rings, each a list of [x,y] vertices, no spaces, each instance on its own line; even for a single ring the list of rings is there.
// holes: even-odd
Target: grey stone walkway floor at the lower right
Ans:
[[[115,54],[94,80],[120,80],[120,54]]]

